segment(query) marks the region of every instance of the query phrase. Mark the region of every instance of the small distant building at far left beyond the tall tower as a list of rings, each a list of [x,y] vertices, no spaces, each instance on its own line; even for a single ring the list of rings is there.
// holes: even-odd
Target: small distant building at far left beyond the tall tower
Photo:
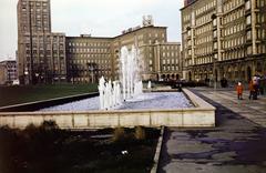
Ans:
[[[18,79],[17,61],[7,60],[0,62],[0,84],[11,84]]]

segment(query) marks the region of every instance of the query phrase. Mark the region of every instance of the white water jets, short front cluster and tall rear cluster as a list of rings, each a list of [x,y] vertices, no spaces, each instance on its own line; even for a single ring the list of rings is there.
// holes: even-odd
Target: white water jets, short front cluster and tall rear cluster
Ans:
[[[131,51],[126,47],[121,49],[120,63],[120,82],[111,81],[105,82],[102,77],[99,82],[100,92],[100,109],[110,110],[121,104],[121,100],[124,101],[132,99],[133,96],[142,94],[143,83],[140,75],[139,60],[140,51],[132,45]],[[121,98],[121,85],[123,98]]]

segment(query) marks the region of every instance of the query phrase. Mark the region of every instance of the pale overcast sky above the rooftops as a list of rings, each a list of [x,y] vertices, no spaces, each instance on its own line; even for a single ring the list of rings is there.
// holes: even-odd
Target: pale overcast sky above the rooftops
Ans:
[[[0,1],[0,60],[14,59],[18,0]],[[168,41],[181,41],[182,7],[183,0],[51,0],[52,31],[115,37],[152,14],[155,26],[168,27]]]

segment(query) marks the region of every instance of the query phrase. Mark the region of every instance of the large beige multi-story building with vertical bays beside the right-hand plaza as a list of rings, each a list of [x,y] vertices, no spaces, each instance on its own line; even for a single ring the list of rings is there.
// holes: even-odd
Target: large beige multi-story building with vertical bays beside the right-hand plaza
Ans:
[[[181,11],[187,80],[266,74],[266,0],[195,0]]]

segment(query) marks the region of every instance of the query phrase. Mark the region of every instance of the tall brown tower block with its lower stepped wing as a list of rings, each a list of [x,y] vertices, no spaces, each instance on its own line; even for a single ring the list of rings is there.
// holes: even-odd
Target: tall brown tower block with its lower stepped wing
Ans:
[[[17,10],[20,81],[65,81],[65,35],[51,32],[50,0],[19,0]]]

